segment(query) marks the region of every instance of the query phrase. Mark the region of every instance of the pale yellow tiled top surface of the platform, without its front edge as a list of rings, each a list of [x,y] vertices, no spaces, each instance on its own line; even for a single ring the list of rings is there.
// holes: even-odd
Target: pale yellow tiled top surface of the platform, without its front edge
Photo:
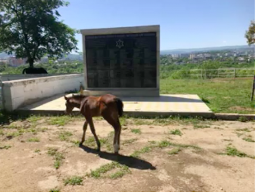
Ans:
[[[67,95],[68,96],[68,95]],[[161,95],[160,97],[120,97],[127,112],[212,113],[198,95]],[[64,111],[64,95],[47,98],[21,110]],[[74,109],[78,110],[78,109]]]

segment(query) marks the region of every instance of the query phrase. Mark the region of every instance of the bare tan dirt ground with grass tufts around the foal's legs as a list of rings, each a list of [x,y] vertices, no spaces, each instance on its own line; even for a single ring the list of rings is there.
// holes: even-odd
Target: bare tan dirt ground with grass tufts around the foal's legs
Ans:
[[[17,120],[0,130],[0,191],[255,191],[254,122],[95,120],[101,152],[82,119]]]

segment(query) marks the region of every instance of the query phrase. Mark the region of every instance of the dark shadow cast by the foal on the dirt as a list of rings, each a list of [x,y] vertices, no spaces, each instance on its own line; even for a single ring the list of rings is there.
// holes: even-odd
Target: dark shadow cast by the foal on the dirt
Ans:
[[[104,158],[104,159],[111,160],[111,161],[116,161],[122,165],[126,165],[131,168],[136,168],[139,170],[148,170],[148,169],[155,170],[156,169],[156,167],[153,166],[148,161],[145,161],[145,160],[142,160],[139,158],[109,153],[109,152],[105,152],[105,151],[98,152],[96,149],[92,149],[92,148],[84,146],[84,145],[80,145],[79,147],[88,153],[98,154],[100,158]]]

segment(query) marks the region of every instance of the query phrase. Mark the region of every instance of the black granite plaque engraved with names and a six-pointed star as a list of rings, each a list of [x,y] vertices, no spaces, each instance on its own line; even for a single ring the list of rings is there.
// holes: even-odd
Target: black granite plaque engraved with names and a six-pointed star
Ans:
[[[88,35],[85,41],[89,88],[156,88],[155,32]]]

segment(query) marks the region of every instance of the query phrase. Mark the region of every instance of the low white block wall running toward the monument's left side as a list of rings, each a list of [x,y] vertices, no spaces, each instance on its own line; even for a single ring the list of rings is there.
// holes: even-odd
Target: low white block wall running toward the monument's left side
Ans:
[[[83,74],[67,74],[2,82],[3,108],[7,111],[33,104],[44,98],[79,90]]]

